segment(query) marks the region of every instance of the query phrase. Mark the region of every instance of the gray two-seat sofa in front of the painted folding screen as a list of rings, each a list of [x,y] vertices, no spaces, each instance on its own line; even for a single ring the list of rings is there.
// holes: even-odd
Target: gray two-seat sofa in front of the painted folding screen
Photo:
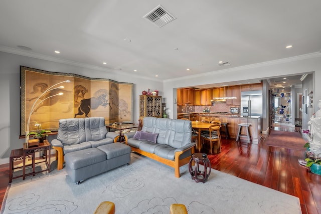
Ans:
[[[57,139],[51,141],[56,149],[57,169],[63,168],[65,154],[113,143],[118,135],[107,132],[103,117],[60,119]]]

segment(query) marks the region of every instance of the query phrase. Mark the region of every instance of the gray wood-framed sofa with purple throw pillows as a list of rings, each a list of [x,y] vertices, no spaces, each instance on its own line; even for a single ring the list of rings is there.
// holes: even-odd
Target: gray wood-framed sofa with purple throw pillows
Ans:
[[[180,177],[180,166],[189,163],[195,150],[189,120],[144,117],[140,134],[128,132],[124,136],[132,151],[173,167],[176,177]]]

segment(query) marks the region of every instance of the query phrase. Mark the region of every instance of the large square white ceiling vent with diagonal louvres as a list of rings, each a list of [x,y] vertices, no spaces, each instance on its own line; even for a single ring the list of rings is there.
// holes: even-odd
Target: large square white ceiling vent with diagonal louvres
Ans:
[[[166,24],[172,22],[173,20],[176,20],[176,17],[174,17],[172,14],[170,14],[161,5],[158,5],[156,8],[154,8],[148,14],[143,16],[143,18],[147,19],[148,21],[152,22],[154,25],[158,26],[158,28],[161,28],[161,27],[165,26]]]

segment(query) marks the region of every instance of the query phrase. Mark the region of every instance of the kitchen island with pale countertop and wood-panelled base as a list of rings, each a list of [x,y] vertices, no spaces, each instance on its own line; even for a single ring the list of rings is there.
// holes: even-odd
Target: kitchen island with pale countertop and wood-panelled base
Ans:
[[[228,131],[231,138],[237,137],[238,132],[238,124],[239,123],[248,123],[251,124],[250,126],[250,135],[251,135],[251,142],[253,144],[258,144],[258,142],[261,139],[261,117],[259,116],[250,116],[250,117],[244,117],[240,114],[231,114],[231,113],[225,113],[225,114],[218,114],[218,113],[212,113],[212,112],[189,112],[189,113],[178,113],[177,118],[181,119],[183,117],[195,121],[202,121],[202,120],[220,120],[221,122],[227,122],[228,123]],[[246,134],[245,130],[241,134]],[[242,139],[242,138],[241,138]]]

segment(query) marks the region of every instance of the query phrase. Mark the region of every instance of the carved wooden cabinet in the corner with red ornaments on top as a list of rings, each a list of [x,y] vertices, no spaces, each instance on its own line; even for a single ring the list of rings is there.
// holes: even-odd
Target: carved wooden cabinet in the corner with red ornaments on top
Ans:
[[[143,117],[162,117],[161,96],[139,96],[139,118]]]

